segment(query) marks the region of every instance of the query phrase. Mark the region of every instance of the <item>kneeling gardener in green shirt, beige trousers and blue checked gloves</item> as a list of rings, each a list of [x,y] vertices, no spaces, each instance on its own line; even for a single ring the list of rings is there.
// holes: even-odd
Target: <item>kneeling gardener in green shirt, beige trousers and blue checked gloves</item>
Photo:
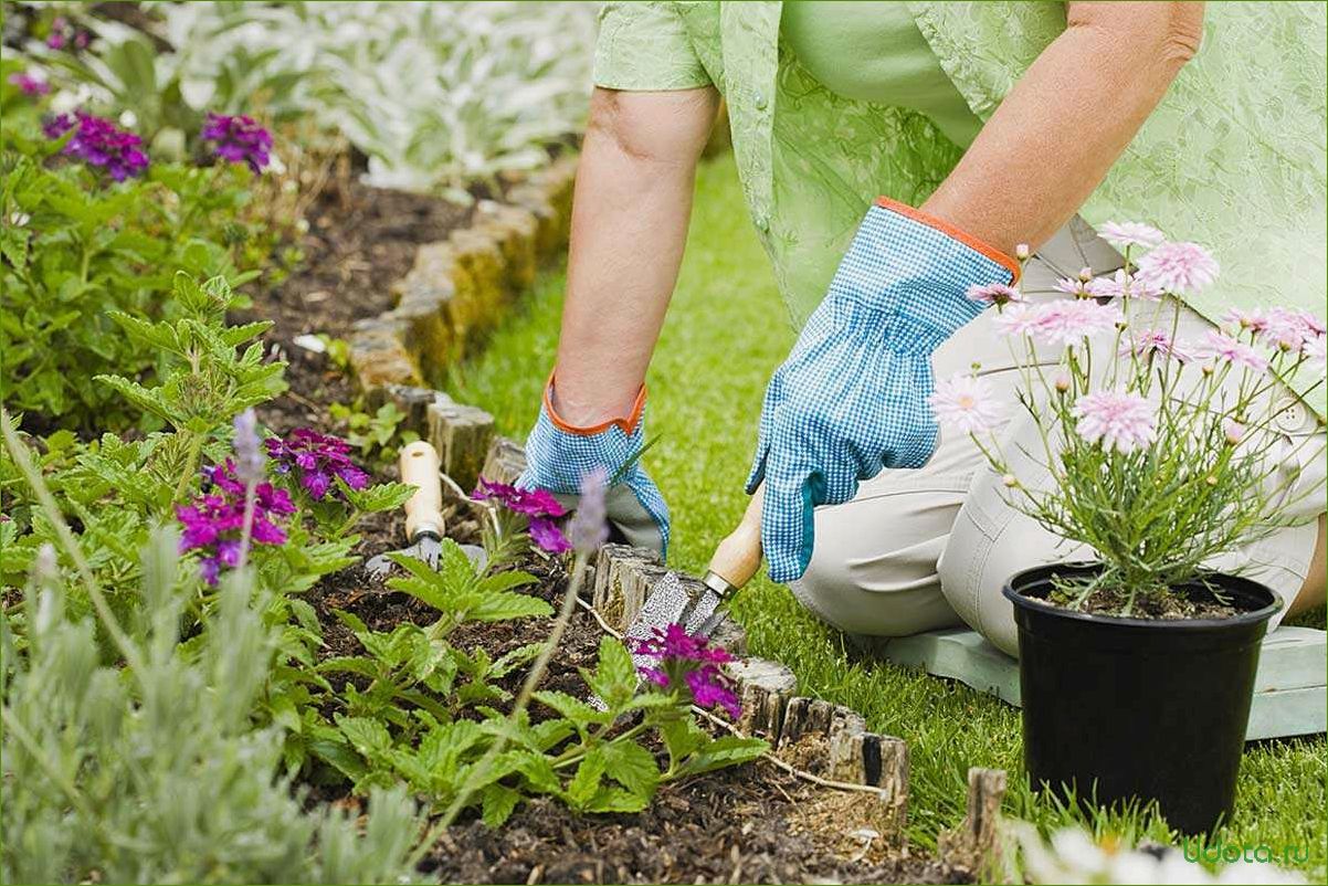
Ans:
[[[976,361],[1012,400],[995,312],[965,292],[1011,283],[1020,244],[1036,252],[1035,300],[1073,298],[1054,283],[1082,267],[1120,268],[1081,211],[1212,247],[1223,286],[1189,299],[1182,335],[1232,306],[1321,312],[1323,28],[1319,4],[607,4],[558,363],[523,482],[570,493],[645,442],[643,380],[722,94],[802,325],[749,481],[764,484],[772,578],[853,634],[967,622],[1013,654],[1001,582],[1073,551],[1004,503],[967,437],[938,441],[927,364],[946,377]],[[762,331],[732,333],[740,359]],[[1280,396],[1305,522],[1240,557],[1295,611],[1324,599],[1323,434]],[[667,546],[640,465],[610,509],[628,539]]]

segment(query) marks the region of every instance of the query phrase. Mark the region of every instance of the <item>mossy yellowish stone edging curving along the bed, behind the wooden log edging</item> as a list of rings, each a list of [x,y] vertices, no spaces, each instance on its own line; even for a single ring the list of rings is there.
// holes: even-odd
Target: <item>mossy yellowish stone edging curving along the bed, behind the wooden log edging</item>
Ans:
[[[396,307],[353,327],[351,369],[360,387],[418,385],[474,349],[535,270],[564,251],[575,178],[576,155],[560,157],[502,202],[482,201],[469,227],[422,244],[392,286]]]

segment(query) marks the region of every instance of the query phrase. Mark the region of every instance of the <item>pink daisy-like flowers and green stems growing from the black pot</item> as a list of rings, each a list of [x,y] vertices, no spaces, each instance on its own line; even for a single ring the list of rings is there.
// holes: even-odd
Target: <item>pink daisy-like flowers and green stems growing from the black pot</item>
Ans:
[[[1303,311],[1231,311],[1222,328],[1178,340],[1181,298],[1210,286],[1216,262],[1146,224],[1108,224],[1102,235],[1126,264],[1061,280],[1072,299],[969,294],[996,306],[995,327],[1009,336],[1027,440],[1003,433],[1005,410],[983,376],[942,381],[931,405],[939,424],[981,448],[1012,505],[1102,562],[1061,602],[1159,612],[1212,557],[1288,522],[1293,477],[1283,468],[1296,453],[1282,449],[1274,416],[1284,383],[1301,373],[1316,375],[1311,389],[1323,383],[1325,327]],[[1048,348],[1060,357],[1049,369]],[[1016,460],[1052,481],[1025,485]]]

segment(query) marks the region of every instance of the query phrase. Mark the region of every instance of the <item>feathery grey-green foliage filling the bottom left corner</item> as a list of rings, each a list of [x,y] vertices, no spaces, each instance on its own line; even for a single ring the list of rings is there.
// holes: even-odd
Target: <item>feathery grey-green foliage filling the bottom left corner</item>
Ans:
[[[276,638],[247,576],[182,644],[190,583],[174,533],[142,551],[124,668],[97,662],[94,626],[66,607],[48,551],[28,587],[23,647],[0,615],[4,882],[409,882],[420,822],[400,790],[360,824],[274,777],[282,729],[250,711]],[[101,626],[108,627],[106,624]]]

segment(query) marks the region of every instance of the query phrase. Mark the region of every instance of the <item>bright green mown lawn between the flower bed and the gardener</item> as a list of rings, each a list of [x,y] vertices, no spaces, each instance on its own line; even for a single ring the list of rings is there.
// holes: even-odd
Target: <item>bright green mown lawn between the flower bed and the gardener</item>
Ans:
[[[449,387],[497,417],[502,433],[523,437],[554,360],[562,275],[537,291],[474,364]],[[761,393],[793,341],[765,254],[750,228],[732,159],[703,167],[687,259],[649,373],[649,433],[660,441],[645,458],[673,511],[671,565],[697,573],[713,545],[742,513]],[[1000,766],[1016,786],[1007,812],[1044,825],[1072,813],[1036,800],[1019,781],[1019,712],[964,685],[916,671],[865,662],[841,635],[810,618],[789,590],[760,575],[738,598],[737,618],[753,652],[791,667],[806,695],[861,711],[870,728],[908,741],[910,828],[935,845],[963,816],[969,766]],[[1321,616],[1317,619],[1321,622]],[[1325,857],[1325,744],[1262,743],[1242,766],[1230,838],[1246,843],[1311,846]],[[1141,749],[1146,753],[1146,749]],[[1167,841],[1155,817],[1112,816],[1093,822],[1134,840]]]

